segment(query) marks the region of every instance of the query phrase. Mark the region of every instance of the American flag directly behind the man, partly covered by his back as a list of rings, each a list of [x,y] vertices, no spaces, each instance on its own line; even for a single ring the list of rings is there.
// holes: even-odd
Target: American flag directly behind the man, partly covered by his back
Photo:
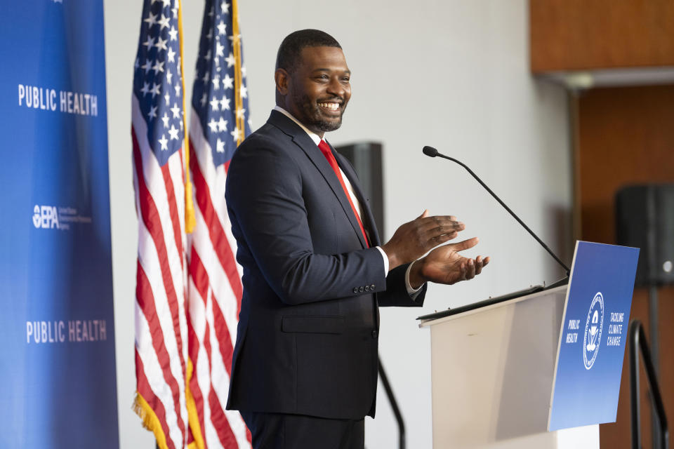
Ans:
[[[189,385],[204,448],[250,448],[237,411],[225,410],[241,309],[241,267],[225,205],[232,154],[250,133],[236,0],[206,0],[190,116],[196,225],[189,263]]]

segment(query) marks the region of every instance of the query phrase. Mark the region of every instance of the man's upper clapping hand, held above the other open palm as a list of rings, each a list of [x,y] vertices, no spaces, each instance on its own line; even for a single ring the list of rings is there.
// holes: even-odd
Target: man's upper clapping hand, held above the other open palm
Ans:
[[[428,216],[428,210],[395,230],[391,239],[381,246],[388,256],[388,269],[414,262],[442,243],[456,238],[465,225],[454,215]]]

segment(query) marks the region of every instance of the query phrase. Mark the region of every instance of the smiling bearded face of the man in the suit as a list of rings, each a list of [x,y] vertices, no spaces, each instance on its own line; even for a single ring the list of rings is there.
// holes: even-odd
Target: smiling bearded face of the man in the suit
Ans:
[[[287,74],[284,109],[322,137],[342,124],[351,98],[350,76],[341,48],[305,47],[298,66]]]

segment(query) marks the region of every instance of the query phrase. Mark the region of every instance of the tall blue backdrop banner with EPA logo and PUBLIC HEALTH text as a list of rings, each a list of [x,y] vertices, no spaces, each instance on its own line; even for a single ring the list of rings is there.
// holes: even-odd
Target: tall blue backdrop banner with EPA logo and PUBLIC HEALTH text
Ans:
[[[0,447],[117,448],[103,1],[4,1],[0,61]]]

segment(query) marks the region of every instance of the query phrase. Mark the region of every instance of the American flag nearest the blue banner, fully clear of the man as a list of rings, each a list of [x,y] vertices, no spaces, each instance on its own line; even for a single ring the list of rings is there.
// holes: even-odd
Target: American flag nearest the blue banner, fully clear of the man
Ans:
[[[138,214],[134,406],[162,449],[191,440],[179,8],[178,0],[143,2],[131,98]]]

